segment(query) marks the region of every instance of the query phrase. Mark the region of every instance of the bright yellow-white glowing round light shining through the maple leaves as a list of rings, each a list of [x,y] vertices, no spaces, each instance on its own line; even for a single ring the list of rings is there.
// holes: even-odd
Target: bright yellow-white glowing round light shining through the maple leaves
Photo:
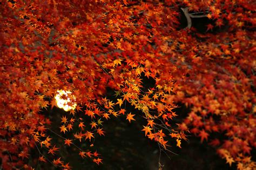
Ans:
[[[72,100],[76,100],[75,96],[73,96],[70,91],[58,90],[55,96],[57,106],[63,108],[66,112],[75,110],[77,106],[77,104],[71,101],[69,97],[72,97]]]

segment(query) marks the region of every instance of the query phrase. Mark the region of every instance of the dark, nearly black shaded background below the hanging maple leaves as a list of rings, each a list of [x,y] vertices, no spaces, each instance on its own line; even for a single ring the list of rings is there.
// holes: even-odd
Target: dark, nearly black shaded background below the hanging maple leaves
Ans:
[[[112,93],[112,92],[111,92]],[[129,110],[127,108],[126,110]],[[132,108],[130,108],[132,111]],[[179,123],[180,120],[185,118],[188,109],[185,106],[180,106],[176,109],[176,112],[179,114],[177,118],[173,120],[174,123]],[[136,110],[133,111],[133,114],[136,114]],[[69,117],[69,113],[60,110],[59,108],[53,108],[53,110],[45,110],[42,112],[48,116],[51,121],[51,130],[59,133],[59,126],[62,115]],[[85,125],[87,129],[90,129],[90,118],[85,116],[84,113],[80,116],[84,118]],[[88,140],[82,140],[82,143],[75,141],[74,143],[84,151],[97,151],[100,153],[100,158],[103,159],[103,164],[99,166],[92,162],[90,158],[82,159],[78,155],[79,149],[75,146],[65,146],[64,140],[58,137],[56,134],[51,133],[53,142],[56,142],[57,147],[60,147],[60,151],[57,152],[59,157],[62,157],[62,160],[65,162],[70,162],[72,169],[158,169],[158,160],[160,155],[160,149],[157,142],[154,142],[147,137],[145,137],[145,132],[142,131],[143,126],[147,122],[144,118],[140,117],[139,113],[134,116],[136,121],[126,120],[125,115],[121,115],[118,118],[111,117],[109,120],[102,119],[104,121],[103,128],[105,137],[99,137],[96,135],[95,140],[92,140],[94,146],[90,146]],[[77,131],[79,132],[79,131]],[[236,169],[233,164],[230,167],[226,164],[225,160],[218,157],[215,153],[215,149],[211,146],[208,146],[206,142],[203,144],[200,143],[200,139],[194,137],[192,134],[188,134],[188,141],[181,141],[181,147],[176,147],[175,141],[169,141],[170,151],[171,152],[161,152],[160,162],[161,165],[164,165],[163,169]],[[64,138],[73,138],[72,133],[62,133]],[[46,155],[50,160],[53,158],[57,159],[58,157],[52,157],[47,154],[46,149],[41,149],[41,152]],[[31,153],[31,158],[38,158],[38,151],[35,149]],[[35,169],[60,169],[55,168],[49,163],[40,163],[34,162],[33,167]]]

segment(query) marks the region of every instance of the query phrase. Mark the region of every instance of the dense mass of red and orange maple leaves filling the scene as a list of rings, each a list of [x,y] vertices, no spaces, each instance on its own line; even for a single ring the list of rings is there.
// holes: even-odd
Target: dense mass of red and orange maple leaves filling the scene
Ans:
[[[193,133],[228,164],[256,167],[250,156],[256,147],[254,1],[0,3],[3,169],[30,169],[31,149],[39,152],[39,161],[71,168],[57,156],[49,118],[39,113],[56,106],[58,90],[71,91],[77,103],[54,132],[66,146],[78,147],[74,141],[84,140],[93,145],[95,135],[105,133],[103,119],[126,115],[132,122],[140,113],[147,120],[142,131],[161,149],[181,147],[186,134]],[[207,32],[193,25],[179,29],[185,7],[213,21]],[[153,79],[154,87],[145,89],[145,78]],[[105,97],[107,87],[116,91],[116,100]],[[191,112],[172,127],[179,102]],[[126,103],[138,113],[127,112]],[[65,133],[73,138],[64,138]],[[211,135],[216,133],[221,138]],[[78,148],[80,157],[102,163],[97,152]]]

